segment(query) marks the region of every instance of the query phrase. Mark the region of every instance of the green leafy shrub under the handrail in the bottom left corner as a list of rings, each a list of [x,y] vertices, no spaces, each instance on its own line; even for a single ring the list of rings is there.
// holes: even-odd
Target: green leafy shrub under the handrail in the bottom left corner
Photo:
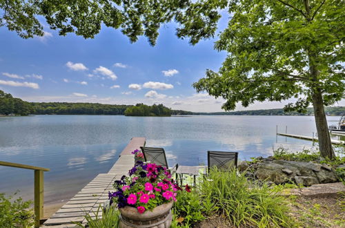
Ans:
[[[34,225],[34,212],[30,209],[32,201],[23,202],[22,198],[16,200],[12,198],[13,196],[6,198],[4,193],[0,193],[1,228],[32,227]]]

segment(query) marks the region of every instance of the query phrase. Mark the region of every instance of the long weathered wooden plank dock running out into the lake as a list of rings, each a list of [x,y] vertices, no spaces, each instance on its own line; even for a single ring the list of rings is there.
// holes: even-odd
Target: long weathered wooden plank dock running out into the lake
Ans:
[[[121,152],[119,159],[112,166],[108,173],[100,173],[90,183],[83,187],[66,205],[55,212],[43,227],[76,227],[73,222],[86,224],[83,217],[87,213],[95,217],[94,213],[108,200],[108,191],[113,191],[112,184],[119,180],[122,175],[127,175],[134,165],[134,155],[130,152],[140,149],[145,145],[145,137],[133,137],[126,148]],[[101,211],[100,211],[101,214]]]

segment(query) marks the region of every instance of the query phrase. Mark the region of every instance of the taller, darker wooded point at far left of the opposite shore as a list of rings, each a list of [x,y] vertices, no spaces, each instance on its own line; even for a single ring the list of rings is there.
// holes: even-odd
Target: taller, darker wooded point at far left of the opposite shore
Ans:
[[[33,108],[29,102],[14,98],[10,93],[0,90],[0,115],[29,115],[32,112]]]

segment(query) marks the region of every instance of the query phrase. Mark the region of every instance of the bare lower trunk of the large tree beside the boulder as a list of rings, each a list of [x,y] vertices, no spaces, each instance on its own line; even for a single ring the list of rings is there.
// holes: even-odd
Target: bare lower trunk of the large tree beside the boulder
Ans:
[[[313,91],[313,108],[321,156],[322,158],[328,157],[333,159],[335,158],[335,153],[333,151],[331,137],[328,132],[326,115],[324,113],[324,101],[319,88],[315,88]]]

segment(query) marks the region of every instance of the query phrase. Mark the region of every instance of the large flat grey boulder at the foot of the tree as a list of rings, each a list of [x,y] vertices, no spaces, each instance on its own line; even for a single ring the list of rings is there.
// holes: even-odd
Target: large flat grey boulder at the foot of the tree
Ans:
[[[295,181],[297,184],[303,183],[306,186],[308,184],[337,182],[337,175],[326,165],[286,160],[259,162],[255,177],[276,184]],[[304,178],[297,178],[296,180],[296,177]]]

